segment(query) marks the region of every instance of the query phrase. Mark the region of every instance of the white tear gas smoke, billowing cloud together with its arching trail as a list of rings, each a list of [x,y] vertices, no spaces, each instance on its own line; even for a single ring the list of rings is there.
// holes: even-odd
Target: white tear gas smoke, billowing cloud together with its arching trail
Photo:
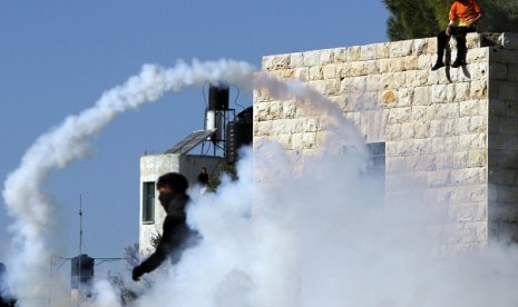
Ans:
[[[243,63],[232,63],[235,70],[222,67],[226,72],[222,71],[212,80],[226,80],[238,71],[240,78],[250,86],[252,69]],[[199,67],[205,66],[201,63]],[[153,67],[146,73],[148,69],[145,68],[138,77],[148,80],[144,82],[147,86],[123,90],[125,95],[117,89],[108,95],[111,98],[105,98],[117,101],[108,103],[119,106],[116,111],[110,107],[94,108],[99,110],[90,112],[102,116],[94,117],[96,123],[84,123],[86,131],[80,135],[51,132],[49,137],[43,136],[43,140],[33,146],[41,149],[29,150],[22,166],[6,181],[4,197],[9,199],[11,214],[18,226],[28,227],[18,234],[25,246],[16,273],[18,283],[27,281],[33,286],[46,283],[43,275],[35,280],[31,276],[29,280],[27,273],[19,269],[30,266],[41,274],[46,267],[39,263],[41,258],[32,259],[30,252],[48,252],[42,234],[50,222],[46,214],[52,204],[41,200],[46,198],[41,197],[39,186],[50,169],[81,157],[89,137],[108,123],[115,113],[175,89],[169,86],[172,78],[156,77],[163,76],[156,71],[166,70]],[[184,70],[190,73],[194,69],[185,66]],[[203,77],[207,71],[199,71],[202,76],[189,80],[207,80],[206,76]],[[144,78],[143,75],[149,76]],[[198,83],[185,81],[179,72],[177,76],[177,81],[172,82],[182,85],[177,90]],[[342,111],[301,83],[283,83],[257,73],[254,88],[267,91],[275,99],[294,100],[301,111],[325,115],[329,121],[321,125],[331,132],[330,137],[340,136],[340,143],[361,145],[361,138],[342,117]],[[147,89],[158,93],[144,93]],[[140,102],[126,103],[134,96],[139,97]],[[105,115],[101,109],[109,111]],[[86,121],[79,118],[81,116],[71,121]],[[72,143],[71,140],[81,140],[81,150],[67,157],[58,155],[65,145]],[[46,164],[42,169],[43,157],[29,155],[40,150],[53,157],[53,162]],[[366,159],[366,150],[359,152],[354,155],[360,155],[360,159],[348,152],[309,158],[304,160],[301,176],[291,176],[291,169],[297,161],[281,146],[263,142],[253,154],[252,149],[244,149],[237,165],[238,181],[223,180],[214,195],[193,195],[188,222],[202,234],[201,244],[186,250],[182,261],[166,276],[158,277],[152,289],[141,291],[134,306],[482,307],[518,304],[518,294],[514,289],[518,276],[518,252],[515,248],[496,246],[480,252],[450,257],[428,255],[427,244],[422,242],[422,220],[428,217],[410,210],[417,205],[412,199],[399,204],[398,210],[393,210],[391,204],[384,204],[383,191],[375,180],[359,171],[362,159]],[[275,185],[257,185],[257,169],[285,176]],[[23,182],[23,175],[33,178],[35,172],[39,180]],[[38,202],[17,202],[16,192],[21,192],[22,188],[26,192],[28,187],[30,199]],[[39,210],[39,216],[35,217],[35,210]],[[39,249],[35,250],[35,246]],[[100,293],[97,306],[120,304],[116,291],[106,283],[101,281],[96,288]]]

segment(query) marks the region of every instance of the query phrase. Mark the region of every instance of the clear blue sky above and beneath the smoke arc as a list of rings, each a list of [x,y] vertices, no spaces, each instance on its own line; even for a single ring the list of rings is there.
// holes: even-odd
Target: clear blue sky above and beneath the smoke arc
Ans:
[[[69,115],[90,108],[144,63],[244,60],[267,55],[387,40],[389,12],[366,1],[2,1],[0,3],[0,177]],[[216,2],[216,1],[214,1]],[[231,93],[234,98],[235,92]],[[250,95],[237,102],[252,103]],[[235,107],[240,110],[240,107]],[[169,93],[123,113],[91,143],[87,160],[51,174],[45,186],[61,209],[62,257],[121,257],[138,240],[139,158],[164,152],[203,128],[202,89]],[[10,245],[10,217],[0,199],[0,261]]]

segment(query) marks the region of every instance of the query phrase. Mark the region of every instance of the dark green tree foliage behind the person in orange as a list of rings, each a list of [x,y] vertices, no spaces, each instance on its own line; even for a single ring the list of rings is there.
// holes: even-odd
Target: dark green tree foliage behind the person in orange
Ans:
[[[391,12],[387,21],[390,40],[434,37],[448,24],[452,0],[383,0]],[[518,32],[518,1],[479,0],[479,32]]]

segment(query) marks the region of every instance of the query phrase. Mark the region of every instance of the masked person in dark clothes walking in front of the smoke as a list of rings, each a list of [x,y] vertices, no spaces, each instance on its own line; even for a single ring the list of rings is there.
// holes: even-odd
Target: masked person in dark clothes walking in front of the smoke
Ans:
[[[189,196],[187,179],[178,172],[168,172],[158,178],[156,188],[159,192],[158,199],[167,212],[160,241],[155,252],[133,269],[133,279],[140,277],[160,266],[168,257],[172,264],[179,261],[182,251],[188,247],[196,232],[190,230],[186,224],[186,206]]]

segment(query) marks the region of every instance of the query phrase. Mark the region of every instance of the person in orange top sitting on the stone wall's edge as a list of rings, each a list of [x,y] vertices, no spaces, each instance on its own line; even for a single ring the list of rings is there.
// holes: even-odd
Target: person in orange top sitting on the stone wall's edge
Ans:
[[[458,68],[466,65],[466,55],[468,51],[466,36],[469,32],[477,31],[475,27],[480,18],[482,18],[482,10],[476,0],[457,0],[451,4],[449,13],[450,23],[444,31],[437,36],[437,61],[432,70],[444,67],[442,58],[446,44],[451,36],[455,36],[457,40],[457,58],[451,67]]]

